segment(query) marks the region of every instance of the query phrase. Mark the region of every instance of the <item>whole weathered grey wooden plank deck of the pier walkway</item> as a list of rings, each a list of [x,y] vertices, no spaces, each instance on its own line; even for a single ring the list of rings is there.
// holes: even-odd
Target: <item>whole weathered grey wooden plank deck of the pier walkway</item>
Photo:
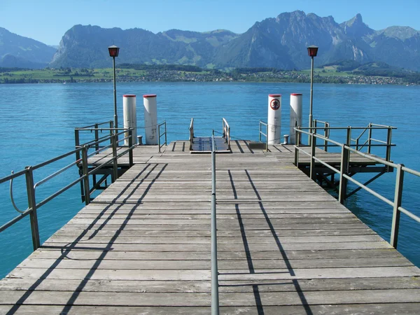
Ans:
[[[210,155],[136,165],[5,279],[1,314],[209,314]],[[186,149],[187,148],[187,149]],[[418,314],[420,269],[293,164],[216,157],[221,314]]]

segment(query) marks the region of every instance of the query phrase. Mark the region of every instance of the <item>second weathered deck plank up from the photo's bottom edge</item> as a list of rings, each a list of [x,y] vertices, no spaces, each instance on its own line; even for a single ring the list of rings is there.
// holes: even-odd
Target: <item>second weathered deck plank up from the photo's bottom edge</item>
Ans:
[[[0,304],[16,303],[22,291],[2,291]],[[52,302],[53,301],[53,302]],[[208,306],[209,293],[103,293],[33,291],[22,304],[68,304],[114,306]],[[255,306],[253,293],[221,293],[221,306]],[[260,293],[262,305],[352,304],[352,303],[412,303],[420,302],[419,289],[389,289],[362,291],[322,291],[297,293]]]

